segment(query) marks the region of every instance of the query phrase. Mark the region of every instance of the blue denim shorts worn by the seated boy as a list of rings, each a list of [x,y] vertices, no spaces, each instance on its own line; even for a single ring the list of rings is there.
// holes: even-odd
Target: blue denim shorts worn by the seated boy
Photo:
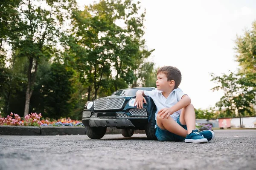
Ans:
[[[187,130],[186,125],[182,125],[180,123],[180,117],[177,120],[177,123]],[[158,141],[184,141],[185,137],[176,135],[174,133],[169,132],[168,130],[163,130],[157,126],[156,128],[156,137]]]

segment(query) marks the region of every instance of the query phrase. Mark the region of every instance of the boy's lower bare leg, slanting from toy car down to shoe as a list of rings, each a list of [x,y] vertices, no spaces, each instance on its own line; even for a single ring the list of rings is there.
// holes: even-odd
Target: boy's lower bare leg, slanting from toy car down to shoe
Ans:
[[[186,129],[177,124],[177,122],[174,121],[171,116],[166,119],[157,115],[157,126],[179,136],[186,137],[187,135]]]

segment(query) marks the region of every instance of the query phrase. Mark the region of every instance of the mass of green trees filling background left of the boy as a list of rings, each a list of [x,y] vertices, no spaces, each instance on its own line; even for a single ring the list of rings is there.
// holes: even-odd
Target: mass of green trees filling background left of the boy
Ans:
[[[83,11],[75,0],[4,1],[1,113],[22,115],[30,101],[27,113],[81,119],[88,100],[134,85],[155,86],[154,64],[147,61],[154,50],[145,46],[144,21],[145,11],[131,0],[101,0]]]

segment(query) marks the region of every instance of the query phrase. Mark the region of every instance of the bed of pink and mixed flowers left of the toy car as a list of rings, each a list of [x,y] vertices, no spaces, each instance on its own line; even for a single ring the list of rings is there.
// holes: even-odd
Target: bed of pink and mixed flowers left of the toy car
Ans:
[[[31,113],[21,118],[19,115],[11,112],[6,118],[0,116],[0,125],[9,126],[84,126],[81,121],[71,120],[70,118],[61,118],[58,120],[50,120],[42,118],[41,113]]]

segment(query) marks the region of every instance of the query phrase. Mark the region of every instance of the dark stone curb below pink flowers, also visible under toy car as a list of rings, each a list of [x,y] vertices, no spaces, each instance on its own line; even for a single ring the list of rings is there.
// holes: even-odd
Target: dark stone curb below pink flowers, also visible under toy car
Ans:
[[[134,133],[145,133],[145,130],[135,130]],[[106,134],[121,134],[121,130],[108,127]],[[0,135],[86,135],[86,133],[85,127],[0,126]]]

